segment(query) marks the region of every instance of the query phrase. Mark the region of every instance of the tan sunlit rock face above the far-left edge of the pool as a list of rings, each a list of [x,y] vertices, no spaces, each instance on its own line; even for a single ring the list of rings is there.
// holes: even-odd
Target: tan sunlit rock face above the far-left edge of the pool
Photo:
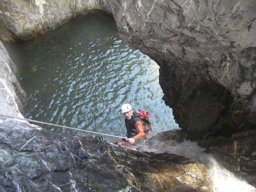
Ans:
[[[95,9],[109,12],[106,0],[3,0],[0,39],[26,41]]]

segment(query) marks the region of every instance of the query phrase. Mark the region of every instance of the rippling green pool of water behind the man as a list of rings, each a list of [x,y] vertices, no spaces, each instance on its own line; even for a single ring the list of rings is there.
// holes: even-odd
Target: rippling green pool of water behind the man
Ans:
[[[161,99],[158,65],[123,43],[112,18],[79,17],[15,48],[14,61],[20,64],[19,80],[33,120],[125,136],[120,107],[131,103],[133,109],[150,113],[151,136],[178,127],[172,109]]]

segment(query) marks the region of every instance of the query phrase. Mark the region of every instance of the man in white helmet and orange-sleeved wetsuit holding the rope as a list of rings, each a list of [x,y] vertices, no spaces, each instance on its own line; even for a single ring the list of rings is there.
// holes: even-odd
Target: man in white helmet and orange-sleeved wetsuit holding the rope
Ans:
[[[149,130],[147,134],[143,130],[143,121],[139,111],[133,112],[132,107],[129,103],[122,105],[121,111],[125,117],[125,127],[127,129],[127,139],[118,139],[113,144],[121,144],[123,146],[131,146],[135,144],[135,141],[141,138],[148,138]]]

